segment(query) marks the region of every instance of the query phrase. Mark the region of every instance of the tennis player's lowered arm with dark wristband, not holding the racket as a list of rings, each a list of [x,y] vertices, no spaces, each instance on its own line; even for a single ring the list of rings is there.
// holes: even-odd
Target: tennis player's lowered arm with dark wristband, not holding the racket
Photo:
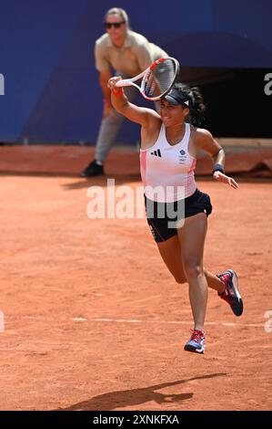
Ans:
[[[227,176],[224,170],[225,152],[222,146],[214,139],[212,134],[204,129],[196,129],[195,141],[198,149],[207,152],[214,162],[213,177],[218,182],[227,183],[234,189],[238,188],[237,182]]]

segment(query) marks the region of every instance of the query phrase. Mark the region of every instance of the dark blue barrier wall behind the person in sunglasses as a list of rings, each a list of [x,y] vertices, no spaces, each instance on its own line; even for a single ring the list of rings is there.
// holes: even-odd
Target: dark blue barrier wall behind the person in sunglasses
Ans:
[[[93,48],[112,1],[0,0],[0,141],[94,142]],[[270,0],[120,0],[131,26],[184,67],[272,68]],[[119,141],[136,141],[123,127]]]

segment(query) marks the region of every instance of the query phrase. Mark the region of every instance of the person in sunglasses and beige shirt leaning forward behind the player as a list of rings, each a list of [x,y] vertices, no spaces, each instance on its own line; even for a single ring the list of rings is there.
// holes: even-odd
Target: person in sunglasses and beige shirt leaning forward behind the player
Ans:
[[[96,40],[95,47],[96,68],[104,95],[103,119],[96,141],[95,159],[81,173],[83,177],[104,174],[106,156],[124,120],[111,104],[110,90],[107,88],[107,82],[113,76],[111,69],[115,69],[117,76],[132,78],[148,68],[156,59],[167,57],[163,49],[130,30],[124,9],[119,7],[109,9],[104,24],[106,34]],[[126,94],[129,99],[133,99],[136,89],[126,88]]]

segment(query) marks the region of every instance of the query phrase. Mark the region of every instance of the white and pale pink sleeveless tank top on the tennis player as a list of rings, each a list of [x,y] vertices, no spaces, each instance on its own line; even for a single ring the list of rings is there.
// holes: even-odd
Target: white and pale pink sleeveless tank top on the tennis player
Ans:
[[[190,124],[186,123],[183,139],[171,145],[162,124],[156,143],[140,150],[141,176],[150,200],[172,203],[195,193],[196,158],[188,152],[190,133]]]

